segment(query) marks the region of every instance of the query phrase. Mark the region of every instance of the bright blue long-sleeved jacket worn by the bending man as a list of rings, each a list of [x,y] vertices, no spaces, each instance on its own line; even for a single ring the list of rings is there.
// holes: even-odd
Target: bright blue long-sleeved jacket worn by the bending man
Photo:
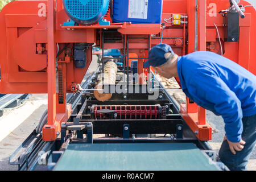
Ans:
[[[177,59],[183,92],[197,105],[221,115],[226,137],[240,142],[242,118],[256,114],[256,77],[234,61],[198,51]]]

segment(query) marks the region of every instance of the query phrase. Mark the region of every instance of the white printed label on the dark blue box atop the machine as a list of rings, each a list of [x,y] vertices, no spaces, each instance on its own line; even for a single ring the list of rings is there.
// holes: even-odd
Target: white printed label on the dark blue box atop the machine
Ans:
[[[129,0],[128,18],[147,19],[148,0]]]

